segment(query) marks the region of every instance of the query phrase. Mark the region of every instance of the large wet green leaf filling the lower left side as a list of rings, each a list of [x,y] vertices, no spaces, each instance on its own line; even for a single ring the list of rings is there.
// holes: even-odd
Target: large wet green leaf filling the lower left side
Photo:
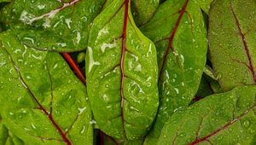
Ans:
[[[0,113],[25,144],[92,144],[84,84],[61,55],[0,36]]]

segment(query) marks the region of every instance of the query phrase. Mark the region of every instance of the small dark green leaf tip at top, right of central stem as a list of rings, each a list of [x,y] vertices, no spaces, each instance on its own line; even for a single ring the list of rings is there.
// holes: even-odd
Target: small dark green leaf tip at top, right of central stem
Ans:
[[[132,0],[131,11],[134,15],[134,20],[137,26],[142,26],[150,18],[158,8],[160,0]]]

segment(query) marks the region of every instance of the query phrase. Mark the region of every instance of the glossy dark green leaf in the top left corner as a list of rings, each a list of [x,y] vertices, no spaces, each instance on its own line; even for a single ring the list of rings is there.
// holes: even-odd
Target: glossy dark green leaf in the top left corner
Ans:
[[[0,21],[5,26],[18,27],[20,40],[35,49],[81,50],[87,46],[90,23],[100,13],[104,2],[15,0],[1,10]]]

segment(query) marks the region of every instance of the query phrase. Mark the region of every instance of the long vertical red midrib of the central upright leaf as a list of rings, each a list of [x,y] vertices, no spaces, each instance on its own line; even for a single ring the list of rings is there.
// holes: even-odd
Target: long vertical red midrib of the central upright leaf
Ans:
[[[125,119],[124,119],[124,61],[125,61],[125,51],[126,51],[126,32],[127,32],[127,22],[128,22],[128,13],[129,13],[129,2],[130,0],[125,0],[125,18],[124,18],[124,28],[123,28],[123,39],[122,39],[122,56],[120,60],[120,69],[121,69],[121,86],[120,86],[120,96],[121,96],[121,119],[123,123],[123,130],[125,133]],[[126,133],[125,133],[126,137]]]

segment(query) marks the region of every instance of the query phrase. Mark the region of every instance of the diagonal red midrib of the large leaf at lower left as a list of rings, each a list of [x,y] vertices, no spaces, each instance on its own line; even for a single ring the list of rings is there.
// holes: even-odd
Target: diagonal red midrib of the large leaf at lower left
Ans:
[[[8,54],[9,52],[7,50],[5,50]],[[19,78],[20,81],[22,82],[22,84],[25,85],[26,89],[29,91],[29,93],[32,95],[33,99],[35,100],[35,102],[37,102],[39,109],[42,110],[42,112],[48,117],[49,121],[52,123],[52,125],[55,126],[56,130],[59,132],[59,134],[62,137],[63,142],[66,142],[67,145],[72,145],[72,143],[68,140],[67,136],[65,135],[64,131],[61,130],[61,127],[55,122],[55,120],[52,118],[52,115],[49,114],[46,109],[40,104],[40,102],[38,101],[38,99],[33,95],[32,90],[30,90],[30,88],[28,87],[28,85],[26,84],[26,82],[24,81],[24,79],[22,78],[21,74],[20,74],[20,69],[19,67],[17,67],[15,65],[15,61],[13,60],[13,58],[11,57],[11,55],[9,54],[10,60],[13,62],[14,67],[17,71],[17,73],[19,74]]]

